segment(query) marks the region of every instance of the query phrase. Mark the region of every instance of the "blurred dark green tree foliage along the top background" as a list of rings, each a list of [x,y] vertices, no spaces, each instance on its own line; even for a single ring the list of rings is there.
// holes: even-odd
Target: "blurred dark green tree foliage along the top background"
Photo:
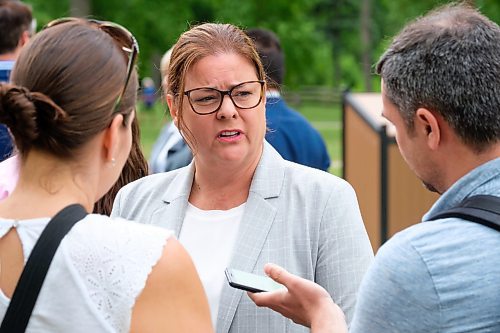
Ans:
[[[286,89],[326,85],[364,90],[361,59],[360,12],[370,2],[369,58],[375,63],[409,20],[446,0],[87,0],[91,16],[126,26],[139,41],[140,74],[159,82],[163,53],[189,26],[202,22],[233,23],[242,28],[273,30],[285,50]],[[471,0],[469,0],[471,1]],[[70,15],[69,1],[26,0],[34,9],[39,28]],[[83,1],[84,2],[84,1]],[[500,1],[471,1],[500,22]],[[372,75],[373,86],[378,78]]]

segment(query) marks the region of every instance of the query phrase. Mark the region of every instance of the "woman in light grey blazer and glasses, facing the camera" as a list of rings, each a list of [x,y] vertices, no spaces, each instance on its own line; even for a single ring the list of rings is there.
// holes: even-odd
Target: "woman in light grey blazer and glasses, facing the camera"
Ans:
[[[192,255],[217,332],[303,332],[229,287],[224,269],[262,274],[276,262],[326,288],[352,316],[373,253],[352,187],[285,161],[265,140],[265,73],[229,24],[182,34],[167,102],[194,153],[184,168],[124,187],[112,216],[173,229]]]

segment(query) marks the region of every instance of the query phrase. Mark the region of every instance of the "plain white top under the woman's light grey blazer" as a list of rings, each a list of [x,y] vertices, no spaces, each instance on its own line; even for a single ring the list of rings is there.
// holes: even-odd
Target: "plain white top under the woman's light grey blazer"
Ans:
[[[190,203],[179,241],[193,258],[207,294],[212,323],[217,322],[226,269],[233,253],[245,204],[229,210],[201,210]]]

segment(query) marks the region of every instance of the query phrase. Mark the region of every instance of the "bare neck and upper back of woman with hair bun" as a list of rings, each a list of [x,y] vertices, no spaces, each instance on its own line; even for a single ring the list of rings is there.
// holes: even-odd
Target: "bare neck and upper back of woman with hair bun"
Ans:
[[[12,194],[0,203],[0,216],[12,219],[51,217],[72,203],[91,212],[95,182],[82,166],[49,154],[31,151],[21,161],[19,181]]]

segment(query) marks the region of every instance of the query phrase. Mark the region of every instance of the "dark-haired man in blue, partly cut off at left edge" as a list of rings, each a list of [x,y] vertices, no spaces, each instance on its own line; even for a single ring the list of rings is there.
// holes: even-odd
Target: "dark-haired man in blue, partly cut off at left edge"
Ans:
[[[31,9],[20,1],[0,0],[0,82],[8,82],[21,48],[34,32]],[[0,161],[13,150],[7,127],[0,124]]]

